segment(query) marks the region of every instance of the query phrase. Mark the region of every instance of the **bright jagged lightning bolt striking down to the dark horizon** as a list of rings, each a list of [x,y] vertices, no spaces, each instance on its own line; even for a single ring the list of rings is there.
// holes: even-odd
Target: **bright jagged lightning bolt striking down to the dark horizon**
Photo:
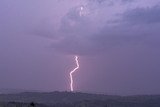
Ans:
[[[72,74],[77,70],[79,69],[79,61],[78,61],[78,56],[75,56],[75,61],[76,61],[76,67],[70,72],[70,89],[71,91],[73,91],[73,76]]]

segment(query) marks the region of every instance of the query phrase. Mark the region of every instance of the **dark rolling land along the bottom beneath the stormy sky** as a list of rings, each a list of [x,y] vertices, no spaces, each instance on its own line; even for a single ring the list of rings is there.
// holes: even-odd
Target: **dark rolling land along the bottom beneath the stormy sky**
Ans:
[[[71,92],[0,94],[0,107],[160,107],[160,95],[111,96]]]

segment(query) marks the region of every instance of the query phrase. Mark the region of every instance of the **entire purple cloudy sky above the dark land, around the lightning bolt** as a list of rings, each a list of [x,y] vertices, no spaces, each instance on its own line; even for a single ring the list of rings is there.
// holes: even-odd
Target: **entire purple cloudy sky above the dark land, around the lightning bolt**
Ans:
[[[160,94],[160,0],[0,0],[0,88]]]

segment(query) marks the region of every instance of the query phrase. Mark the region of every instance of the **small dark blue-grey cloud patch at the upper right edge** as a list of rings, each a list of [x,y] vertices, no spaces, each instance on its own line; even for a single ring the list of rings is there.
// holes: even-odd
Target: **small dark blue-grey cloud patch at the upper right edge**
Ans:
[[[151,8],[136,8],[123,14],[123,21],[132,24],[160,23],[160,5]]]

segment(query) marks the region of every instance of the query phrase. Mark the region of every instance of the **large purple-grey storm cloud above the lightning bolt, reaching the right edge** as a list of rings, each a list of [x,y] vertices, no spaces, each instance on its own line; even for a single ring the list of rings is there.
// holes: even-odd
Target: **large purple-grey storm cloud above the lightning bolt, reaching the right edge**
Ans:
[[[108,6],[110,2],[113,5]],[[55,37],[51,47],[71,55],[106,53],[120,45],[142,45],[147,38],[160,33],[157,31],[160,6],[135,6],[137,2],[89,0],[85,5],[68,9],[52,34],[43,31],[41,34]],[[121,6],[124,7],[118,9]]]

